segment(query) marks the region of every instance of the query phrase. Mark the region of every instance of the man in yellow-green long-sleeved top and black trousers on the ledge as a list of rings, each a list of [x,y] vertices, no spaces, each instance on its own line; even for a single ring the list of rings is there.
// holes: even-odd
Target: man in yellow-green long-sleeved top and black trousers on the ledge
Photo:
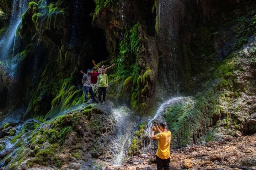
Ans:
[[[97,81],[98,94],[99,94],[98,104],[101,104],[101,94],[102,94],[102,92],[103,92],[102,104],[105,104],[105,98],[106,98],[107,87],[108,87],[108,78],[107,78],[107,74],[104,74],[104,73],[105,73],[105,69],[101,69],[101,74],[98,75],[98,81]]]

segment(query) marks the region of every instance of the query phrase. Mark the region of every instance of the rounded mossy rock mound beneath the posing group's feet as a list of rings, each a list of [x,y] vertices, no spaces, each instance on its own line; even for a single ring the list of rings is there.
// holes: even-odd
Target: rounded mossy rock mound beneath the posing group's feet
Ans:
[[[88,160],[91,155],[94,158],[105,157],[109,154],[107,145],[113,134],[114,118],[93,105],[83,109],[82,112],[71,111],[50,120],[32,131],[29,145],[20,149],[7,166],[11,167],[18,161],[16,166],[20,167],[22,160],[31,155],[34,155],[32,159],[22,166],[31,168],[54,164],[61,167],[74,160]],[[86,111],[89,115],[84,113]],[[16,147],[24,142],[22,134],[13,141]],[[60,151],[68,154],[59,154]]]

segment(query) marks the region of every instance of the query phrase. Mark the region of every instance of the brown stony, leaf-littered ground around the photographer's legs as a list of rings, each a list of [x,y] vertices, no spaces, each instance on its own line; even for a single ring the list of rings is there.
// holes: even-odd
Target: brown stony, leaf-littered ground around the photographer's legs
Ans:
[[[187,148],[171,149],[171,170],[256,169],[256,135],[225,137]],[[156,170],[155,154],[129,158],[127,164],[109,164],[105,170]]]

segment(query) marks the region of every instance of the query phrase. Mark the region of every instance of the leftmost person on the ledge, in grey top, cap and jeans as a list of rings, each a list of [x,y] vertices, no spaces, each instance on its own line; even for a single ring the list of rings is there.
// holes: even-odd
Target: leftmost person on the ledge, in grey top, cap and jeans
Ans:
[[[84,87],[85,104],[89,104],[88,103],[88,92],[90,93],[93,102],[97,102],[94,97],[94,92],[92,91],[92,87],[91,87],[91,70],[90,69],[88,69],[87,74],[84,75],[84,77],[82,79],[82,84]]]

